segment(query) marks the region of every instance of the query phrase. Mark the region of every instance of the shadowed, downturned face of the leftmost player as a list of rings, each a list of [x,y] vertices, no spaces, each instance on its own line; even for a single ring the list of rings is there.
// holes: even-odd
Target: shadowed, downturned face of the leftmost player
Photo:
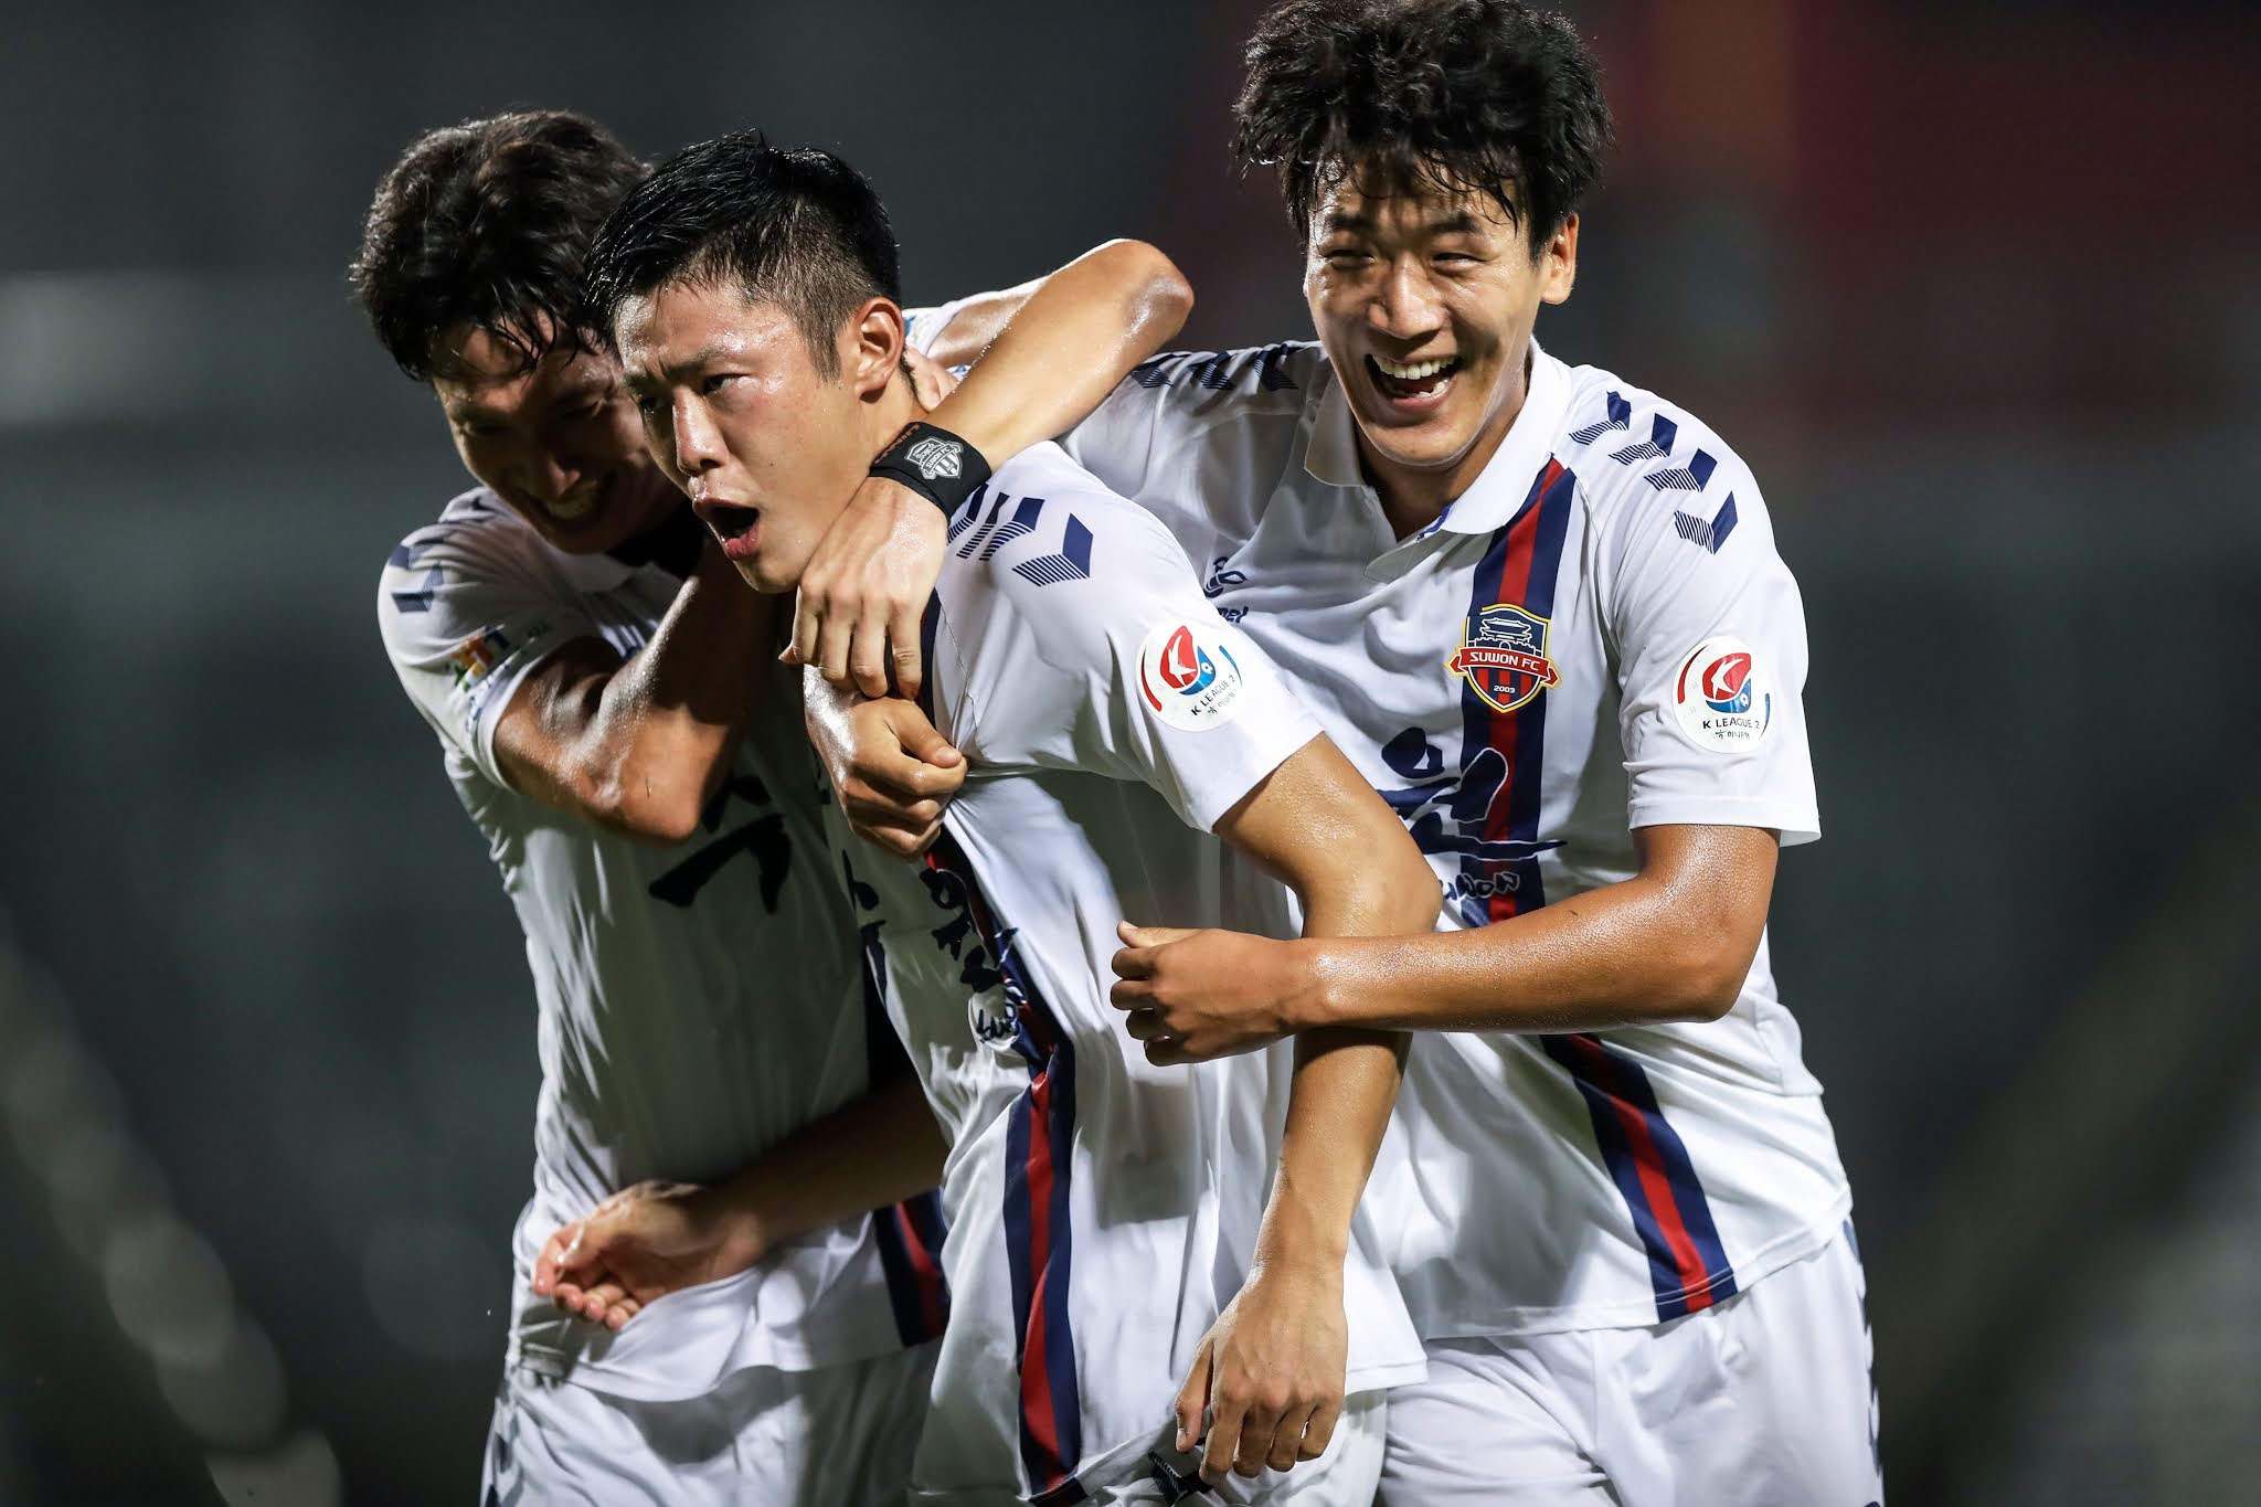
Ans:
[[[432,389],[454,452],[545,540],[597,554],[681,506],[644,454],[610,357],[554,348],[529,368],[506,341],[470,325],[443,348]]]

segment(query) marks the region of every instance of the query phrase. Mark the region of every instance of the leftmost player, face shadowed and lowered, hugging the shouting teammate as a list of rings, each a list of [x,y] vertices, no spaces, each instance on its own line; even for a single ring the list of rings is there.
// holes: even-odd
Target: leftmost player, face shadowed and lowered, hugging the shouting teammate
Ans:
[[[776,603],[588,339],[581,258],[642,176],[563,111],[432,131],[353,267],[477,481],[393,551],[378,615],[538,1003],[488,1500],[861,1507],[900,1496],[925,1410],[941,1141],[870,1001]],[[1097,400],[1183,316],[1153,262],[1085,258],[1011,334],[1090,328],[1049,382]]]

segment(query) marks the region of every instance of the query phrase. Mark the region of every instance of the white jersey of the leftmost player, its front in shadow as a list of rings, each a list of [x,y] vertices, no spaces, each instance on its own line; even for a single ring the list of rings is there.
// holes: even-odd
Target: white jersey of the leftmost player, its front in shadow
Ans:
[[[681,845],[545,807],[495,761],[495,721],[529,669],[583,637],[633,655],[681,585],[656,563],[561,554],[473,490],[393,551],[378,592],[393,671],[502,870],[534,972],[543,1087],[534,1197],[513,1240],[511,1356],[644,1401],[699,1396],[746,1365],[859,1360],[941,1326],[918,1283],[920,1245],[938,1238],[932,1200],[665,1297],[620,1335],[527,1286],[549,1231],[608,1193],[726,1177],[902,1066],[886,1023],[866,1014],[787,676],[762,687],[762,712]]]

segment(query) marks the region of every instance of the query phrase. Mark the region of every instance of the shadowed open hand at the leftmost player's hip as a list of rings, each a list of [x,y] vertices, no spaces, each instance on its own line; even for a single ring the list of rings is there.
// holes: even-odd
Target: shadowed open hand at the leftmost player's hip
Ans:
[[[760,1234],[717,1188],[640,1182],[543,1243],[534,1292],[617,1331],[644,1304],[737,1277],[760,1258]]]

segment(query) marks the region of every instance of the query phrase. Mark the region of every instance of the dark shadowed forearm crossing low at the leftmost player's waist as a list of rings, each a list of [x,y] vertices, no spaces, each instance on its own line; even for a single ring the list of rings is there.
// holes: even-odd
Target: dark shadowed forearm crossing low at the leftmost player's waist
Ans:
[[[943,1182],[943,1132],[918,1078],[809,1121],[724,1184],[760,1254],[814,1229],[916,1197]]]

